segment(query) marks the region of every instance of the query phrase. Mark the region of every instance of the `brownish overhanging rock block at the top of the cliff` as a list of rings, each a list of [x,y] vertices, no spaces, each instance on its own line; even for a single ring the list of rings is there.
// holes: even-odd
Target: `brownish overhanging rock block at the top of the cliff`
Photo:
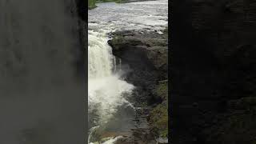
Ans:
[[[112,36],[113,54],[134,70],[150,72],[146,81],[167,78],[167,33],[126,30]]]

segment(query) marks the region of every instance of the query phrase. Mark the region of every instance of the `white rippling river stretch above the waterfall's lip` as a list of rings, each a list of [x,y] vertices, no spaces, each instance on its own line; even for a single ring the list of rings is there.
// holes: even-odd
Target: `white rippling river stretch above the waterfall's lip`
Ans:
[[[88,20],[89,30],[162,30],[168,25],[168,0],[99,3]]]

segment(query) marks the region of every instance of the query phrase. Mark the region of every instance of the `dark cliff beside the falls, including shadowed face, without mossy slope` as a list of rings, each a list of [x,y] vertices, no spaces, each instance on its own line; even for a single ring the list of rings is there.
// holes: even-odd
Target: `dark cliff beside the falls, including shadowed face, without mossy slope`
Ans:
[[[154,90],[159,81],[167,79],[167,31],[125,30],[110,34],[108,42],[113,54],[128,66],[126,81],[137,87],[138,95],[147,103],[158,101]],[[140,100],[142,100],[140,99]],[[143,101],[142,101],[143,102]]]

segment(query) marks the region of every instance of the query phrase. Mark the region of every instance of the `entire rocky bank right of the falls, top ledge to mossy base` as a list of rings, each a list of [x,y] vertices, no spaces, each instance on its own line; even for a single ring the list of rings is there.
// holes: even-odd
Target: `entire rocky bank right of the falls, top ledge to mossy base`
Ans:
[[[122,59],[122,69],[128,71],[126,81],[134,84],[130,99],[136,108],[137,128],[130,137],[116,143],[166,143],[168,137],[168,33],[125,30],[110,34],[113,54]]]

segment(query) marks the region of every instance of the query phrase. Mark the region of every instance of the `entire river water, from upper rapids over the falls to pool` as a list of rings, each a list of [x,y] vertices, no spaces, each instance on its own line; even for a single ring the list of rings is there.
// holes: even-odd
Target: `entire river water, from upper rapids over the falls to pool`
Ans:
[[[123,80],[122,61],[112,54],[107,43],[108,34],[115,30],[157,30],[161,33],[167,26],[167,15],[167,0],[106,2],[89,10],[89,143],[98,143],[102,138],[109,138],[103,141],[105,144],[113,143],[134,125],[134,106],[128,100],[134,86]]]

